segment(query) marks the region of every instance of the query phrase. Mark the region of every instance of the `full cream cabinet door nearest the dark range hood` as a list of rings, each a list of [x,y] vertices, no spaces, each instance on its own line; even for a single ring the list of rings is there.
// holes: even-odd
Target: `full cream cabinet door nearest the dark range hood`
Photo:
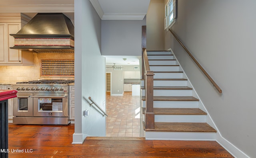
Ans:
[[[10,49],[14,46],[14,37],[10,34],[16,34],[20,30],[19,23],[8,23],[8,63],[9,64],[20,64],[22,63],[21,51],[17,49]]]

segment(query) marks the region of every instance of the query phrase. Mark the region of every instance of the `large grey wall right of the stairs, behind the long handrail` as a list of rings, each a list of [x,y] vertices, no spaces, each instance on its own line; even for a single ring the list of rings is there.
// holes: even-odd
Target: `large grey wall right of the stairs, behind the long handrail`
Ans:
[[[216,123],[222,135],[217,140],[223,144],[222,140],[228,140],[252,158],[256,157],[255,6],[255,0],[178,0],[172,29],[222,88],[222,94],[171,33],[165,32],[165,49],[174,51]],[[229,143],[226,147],[232,150]],[[239,150],[231,152],[238,158],[246,155]]]

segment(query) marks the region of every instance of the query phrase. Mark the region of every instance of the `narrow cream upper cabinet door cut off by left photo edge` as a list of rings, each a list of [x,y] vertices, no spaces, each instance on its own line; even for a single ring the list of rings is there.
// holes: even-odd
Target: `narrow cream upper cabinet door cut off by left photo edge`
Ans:
[[[4,63],[4,52],[6,48],[6,25],[0,23],[0,63]]]

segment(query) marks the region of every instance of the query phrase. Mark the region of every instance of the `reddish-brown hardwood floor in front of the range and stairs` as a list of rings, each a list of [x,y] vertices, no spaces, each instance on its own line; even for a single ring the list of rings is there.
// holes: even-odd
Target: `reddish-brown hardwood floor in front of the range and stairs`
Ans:
[[[233,158],[214,141],[88,137],[83,144],[72,144],[73,133],[74,124],[9,124],[9,158]],[[21,152],[11,152],[17,149]]]

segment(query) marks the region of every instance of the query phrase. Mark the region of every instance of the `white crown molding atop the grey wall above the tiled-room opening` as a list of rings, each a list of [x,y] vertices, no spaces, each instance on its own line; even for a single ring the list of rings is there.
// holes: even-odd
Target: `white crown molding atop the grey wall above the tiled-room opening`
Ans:
[[[146,14],[104,14],[102,20],[143,20]]]

